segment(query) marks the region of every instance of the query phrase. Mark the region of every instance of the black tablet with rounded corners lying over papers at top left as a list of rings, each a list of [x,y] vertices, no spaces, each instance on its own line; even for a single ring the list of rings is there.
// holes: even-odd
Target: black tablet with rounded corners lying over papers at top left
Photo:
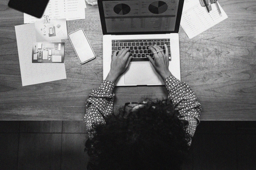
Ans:
[[[49,0],[10,0],[8,6],[18,11],[41,18]]]

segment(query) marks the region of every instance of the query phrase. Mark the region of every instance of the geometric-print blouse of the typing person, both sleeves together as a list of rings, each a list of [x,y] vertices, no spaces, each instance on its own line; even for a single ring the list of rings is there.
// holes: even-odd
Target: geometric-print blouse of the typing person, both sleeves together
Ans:
[[[167,77],[164,83],[168,90],[168,99],[173,103],[174,109],[179,111],[179,118],[189,122],[187,132],[193,136],[200,122],[201,112],[201,105],[197,102],[193,90],[173,75]],[[99,88],[92,90],[86,101],[87,110],[83,121],[89,138],[93,137],[92,124],[105,122],[104,118],[113,112],[114,87],[115,82],[103,80]],[[188,141],[188,145],[191,145],[191,140]]]

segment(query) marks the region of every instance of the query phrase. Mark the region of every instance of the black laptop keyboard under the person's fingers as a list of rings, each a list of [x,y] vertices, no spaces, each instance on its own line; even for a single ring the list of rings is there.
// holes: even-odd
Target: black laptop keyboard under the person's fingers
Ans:
[[[132,53],[131,61],[149,61],[147,55],[150,55],[154,59],[154,55],[148,48],[153,45],[158,45],[164,49],[165,44],[169,49],[169,61],[171,61],[170,53],[170,39],[148,39],[148,40],[112,40],[112,54],[116,50],[121,50],[122,48],[130,48]]]

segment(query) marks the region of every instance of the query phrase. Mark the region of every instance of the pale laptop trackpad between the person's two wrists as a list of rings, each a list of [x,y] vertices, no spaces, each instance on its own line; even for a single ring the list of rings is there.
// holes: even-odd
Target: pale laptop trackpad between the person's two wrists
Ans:
[[[125,84],[158,84],[159,74],[150,62],[130,63],[128,70],[124,74]]]

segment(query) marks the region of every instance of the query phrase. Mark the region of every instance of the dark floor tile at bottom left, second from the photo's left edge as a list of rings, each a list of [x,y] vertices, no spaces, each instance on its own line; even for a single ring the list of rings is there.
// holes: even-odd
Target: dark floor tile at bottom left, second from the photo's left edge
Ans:
[[[20,133],[18,169],[60,169],[60,133]]]

